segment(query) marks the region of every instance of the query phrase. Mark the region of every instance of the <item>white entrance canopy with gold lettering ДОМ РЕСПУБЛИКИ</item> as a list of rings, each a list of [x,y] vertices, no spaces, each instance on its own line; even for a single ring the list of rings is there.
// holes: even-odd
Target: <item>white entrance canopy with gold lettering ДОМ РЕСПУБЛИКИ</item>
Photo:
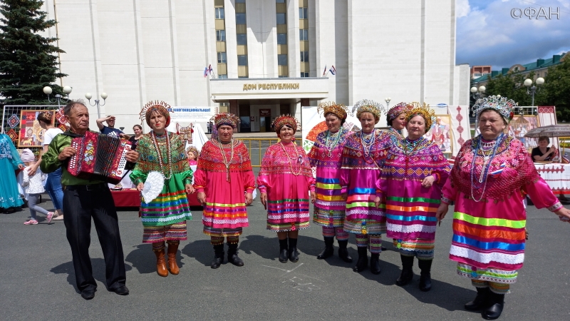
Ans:
[[[232,78],[209,79],[214,103],[233,99],[328,98],[328,78]]]

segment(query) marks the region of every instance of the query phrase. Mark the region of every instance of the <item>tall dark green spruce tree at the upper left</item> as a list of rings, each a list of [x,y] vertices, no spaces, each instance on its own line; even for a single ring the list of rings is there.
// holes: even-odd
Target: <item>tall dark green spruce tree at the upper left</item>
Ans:
[[[58,72],[56,38],[38,32],[56,25],[40,11],[41,0],[2,0],[0,2],[0,101],[2,105],[45,104],[43,86],[53,94],[62,93],[54,84],[67,76]]]

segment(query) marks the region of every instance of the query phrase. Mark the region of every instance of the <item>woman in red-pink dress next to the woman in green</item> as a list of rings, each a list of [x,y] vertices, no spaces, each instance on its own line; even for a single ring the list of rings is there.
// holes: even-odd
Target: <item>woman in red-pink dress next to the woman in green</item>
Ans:
[[[198,200],[204,206],[204,234],[214,245],[217,269],[224,262],[224,238],[227,238],[227,261],[243,266],[237,256],[237,244],[243,228],[249,226],[246,206],[252,203],[254,172],[249,153],[242,141],[233,138],[239,118],[232,113],[214,116],[217,137],[207,141],[198,159],[194,186]]]

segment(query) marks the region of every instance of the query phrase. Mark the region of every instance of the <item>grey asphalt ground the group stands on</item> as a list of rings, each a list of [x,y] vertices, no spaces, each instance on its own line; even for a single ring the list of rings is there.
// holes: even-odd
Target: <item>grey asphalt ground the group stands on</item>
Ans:
[[[90,301],[76,290],[62,221],[26,226],[27,209],[0,214],[0,320],[482,320],[462,307],[475,291],[447,258],[449,219],[437,231],[433,288],[425,293],[418,289],[418,275],[413,284],[394,284],[400,259],[388,242],[380,255],[380,275],[353,272],[353,264],[336,256],[316,260],[323,247],[317,225],[300,233],[299,263],[279,263],[276,235],[265,230],[259,199],[249,207],[251,226],[239,244],[245,266],[226,263],[212,270],[212,246],[202,234],[200,211],[193,213],[189,240],[180,246],[180,275],[159,277],[150,245],[141,243],[137,212],[120,211],[130,288],[125,297],[105,289],[103,255],[93,228],[90,255],[98,291]],[[501,320],[570,320],[570,225],[534,207],[528,225],[527,259]],[[352,237],[349,250],[356,258],[354,244]],[[417,264],[414,269],[419,274]]]

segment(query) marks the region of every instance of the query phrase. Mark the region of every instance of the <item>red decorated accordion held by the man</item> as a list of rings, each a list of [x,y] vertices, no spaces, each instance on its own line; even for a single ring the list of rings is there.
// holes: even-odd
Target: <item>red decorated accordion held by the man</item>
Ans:
[[[83,137],[73,138],[71,147],[77,151],[69,159],[67,170],[71,175],[113,184],[123,178],[129,141],[88,131]]]

